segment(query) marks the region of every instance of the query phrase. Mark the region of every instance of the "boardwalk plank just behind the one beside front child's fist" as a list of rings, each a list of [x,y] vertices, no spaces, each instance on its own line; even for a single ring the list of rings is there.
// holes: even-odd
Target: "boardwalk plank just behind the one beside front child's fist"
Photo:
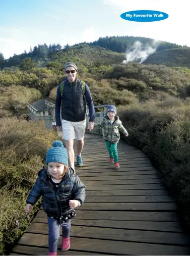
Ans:
[[[87,196],[86,202],[173,202],[168,195]]]

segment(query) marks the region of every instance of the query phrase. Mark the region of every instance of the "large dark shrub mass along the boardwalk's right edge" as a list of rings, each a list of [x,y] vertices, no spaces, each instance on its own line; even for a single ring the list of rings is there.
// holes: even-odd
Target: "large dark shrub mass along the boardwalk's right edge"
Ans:
[[[169,103],[169,104],[168,104]],[[173,104],[174,103],[174,104]],[[173,107],[170,107],[170,106]],[[186,227],[190,227],[189,103],[169,99],[118,108],[129,131],[128,142],[141,148],[159,171],[175,198]]]

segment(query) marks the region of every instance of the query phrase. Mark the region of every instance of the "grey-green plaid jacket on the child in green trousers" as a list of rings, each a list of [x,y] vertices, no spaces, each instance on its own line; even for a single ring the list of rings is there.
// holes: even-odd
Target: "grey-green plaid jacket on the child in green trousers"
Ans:
[[[128,135],[126,129],[122,126],[121,121],[119,120],[118,116],[115,116],[114,122],[111,124],[109,118],[104,116],[102,118],[101,124],[94,124],[95,127],[102,127],[102,134],[105,140],[110,142],[118,142],[120,139],[120,133],[122,132],[123,135]]]

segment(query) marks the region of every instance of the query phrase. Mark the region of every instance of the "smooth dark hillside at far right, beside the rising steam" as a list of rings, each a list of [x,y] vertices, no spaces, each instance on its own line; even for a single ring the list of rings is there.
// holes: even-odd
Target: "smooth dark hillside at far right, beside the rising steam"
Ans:
[[[190,68],[190,48],[166,49],[150,55],[144,64],[163,64],[168,67]]]

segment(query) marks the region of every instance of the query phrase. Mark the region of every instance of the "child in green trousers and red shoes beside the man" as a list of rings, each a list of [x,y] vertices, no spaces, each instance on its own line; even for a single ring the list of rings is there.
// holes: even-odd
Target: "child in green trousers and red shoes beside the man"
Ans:
[[[120,167],[118,163],[117,143],[120,139],[120,132],[128,136],[128,132],[122,126],[119,117],[116,116],[117,109],[114,105],[107,107],[106,116],[102,118],[101,124],[94,124],[95,127],[102,127],[103,138],[109,152],[109,162],[114,163],[115,169]]]

